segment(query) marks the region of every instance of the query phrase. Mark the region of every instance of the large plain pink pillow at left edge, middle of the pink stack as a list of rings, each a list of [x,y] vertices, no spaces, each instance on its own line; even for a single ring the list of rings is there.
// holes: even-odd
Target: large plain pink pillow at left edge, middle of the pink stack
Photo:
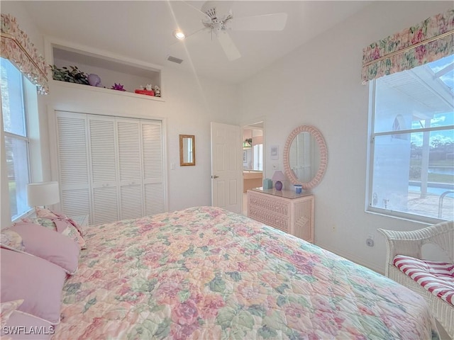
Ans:
[[[39,257],[4,248],[0,262],[0,300],[23,300],[18,310],[58,324],[65,271]]]

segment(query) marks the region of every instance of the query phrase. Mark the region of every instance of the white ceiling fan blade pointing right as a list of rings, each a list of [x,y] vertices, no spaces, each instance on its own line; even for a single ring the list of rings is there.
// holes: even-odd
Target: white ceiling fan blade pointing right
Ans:
[[[262,16],[235,18],[228,23],[232,30],[283,30],[287,23],[287,13],[273,13]]]

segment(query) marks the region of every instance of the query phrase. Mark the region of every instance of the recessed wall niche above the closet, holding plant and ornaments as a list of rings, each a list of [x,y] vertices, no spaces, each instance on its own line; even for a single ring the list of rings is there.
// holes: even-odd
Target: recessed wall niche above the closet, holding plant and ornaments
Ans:
[[[147,64],[131,60],[123,60],[118,57],[109,57],[86,50],[79,50],[73,47],[57,45],[50,43],[50,51],[52,57],[49,64],[55,65],[58,68],[76,66],[80,71],[87,74],[97,74],[101,78],[100,87],[90,86],[85,84],[75,84],[67,81],[58,81],[50,79],[62,86],[80,86],[89,91],[102,91],[104,93],[119,94],[123,96],[133,96],[135,98],[144,98],[153,101],[164,101],[161,81],[161,69],[148,66]],[[52,71],[50,71],[52,74]],[[118,91],[111,89],[114,84],[121,84],[126,91]],[[157,85],[160,87],[161,96],[148,96],[145,94],[135,94],[135,89],[140,89],[140,86],[147,84]],[[74,87],[73,87],[74,88]]]

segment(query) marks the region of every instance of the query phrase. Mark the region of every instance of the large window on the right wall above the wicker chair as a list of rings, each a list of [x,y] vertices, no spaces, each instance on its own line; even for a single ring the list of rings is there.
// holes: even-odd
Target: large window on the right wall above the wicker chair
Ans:
[[[367,210],[422,222],[454,212],[454,56],[371,81]]]

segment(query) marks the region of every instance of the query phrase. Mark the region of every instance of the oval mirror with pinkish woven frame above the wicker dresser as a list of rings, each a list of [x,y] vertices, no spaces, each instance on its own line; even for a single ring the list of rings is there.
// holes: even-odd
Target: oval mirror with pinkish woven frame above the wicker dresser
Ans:
[[[284,171],[292,183],[306,190],[314,188],[323,178],[327,163],[325,140],[313,126],[301,125],[287,137]]]

